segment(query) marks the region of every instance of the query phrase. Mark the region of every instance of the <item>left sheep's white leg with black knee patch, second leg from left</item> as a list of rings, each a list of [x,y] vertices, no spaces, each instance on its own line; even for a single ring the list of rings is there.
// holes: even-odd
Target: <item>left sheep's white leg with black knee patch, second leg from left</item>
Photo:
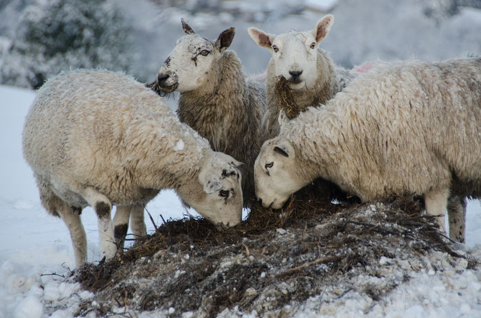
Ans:
[[[117,247],[113,236],[113,226],[111,219],[112,205],[109,198],[93,188],[85,188],[82,196],[93,209],[96,210],[99,231],[100,258],[113,258]]]

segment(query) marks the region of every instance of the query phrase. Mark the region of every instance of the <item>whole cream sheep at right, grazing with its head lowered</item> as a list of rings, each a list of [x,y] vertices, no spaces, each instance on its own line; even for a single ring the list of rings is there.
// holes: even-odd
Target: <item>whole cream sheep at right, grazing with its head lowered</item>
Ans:
[[[323,177],[364,202],[423,195],[444,230],[449,194],[481,197],[480,105],[481,58],[380,63],[262,145],[256,194],[279,209]],[[449,237],[463,242],[462,208],[451,212]]]

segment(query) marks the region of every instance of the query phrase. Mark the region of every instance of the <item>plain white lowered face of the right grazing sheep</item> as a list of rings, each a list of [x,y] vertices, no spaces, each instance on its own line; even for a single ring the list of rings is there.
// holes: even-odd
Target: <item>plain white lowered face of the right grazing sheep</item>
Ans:
[[[264,207],[280,209],[289,196],[307,183],[295,172],[295,150],[279,137],[262,145],[254,163],[256,196]]]

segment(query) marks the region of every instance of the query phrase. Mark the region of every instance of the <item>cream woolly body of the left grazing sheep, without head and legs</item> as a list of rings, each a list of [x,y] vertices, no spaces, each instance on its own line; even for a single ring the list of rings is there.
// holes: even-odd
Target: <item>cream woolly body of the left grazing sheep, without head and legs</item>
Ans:
[[[208,143],[130,76],[70,71],[39,89],[25,119],[23,155],[36,179],[85,207],[87,186],[113,204],[146,202],[192,174]]]

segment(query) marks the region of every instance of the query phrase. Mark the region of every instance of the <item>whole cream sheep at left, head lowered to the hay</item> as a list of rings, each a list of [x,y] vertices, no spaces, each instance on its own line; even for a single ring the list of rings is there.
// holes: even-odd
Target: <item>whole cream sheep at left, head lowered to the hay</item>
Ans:
[[[25,118],[23,156],[43,207],[70,231],[76,266],[86,262],[87,205],[98,216],[102,258],[123,245],[129,215],[133,233],[145,234],[144,206],[161,189],[174,189],[219,227],[241,221],[240,162],[214,152],[123,73],[77,70],[47,80]]]

